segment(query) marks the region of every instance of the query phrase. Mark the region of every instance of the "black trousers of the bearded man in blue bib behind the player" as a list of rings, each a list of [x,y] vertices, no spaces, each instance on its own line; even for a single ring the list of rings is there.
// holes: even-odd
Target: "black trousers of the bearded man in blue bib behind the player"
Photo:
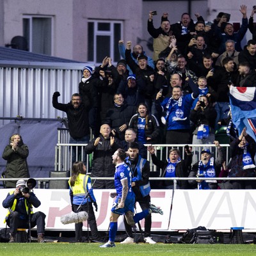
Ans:
[[[150,195],[147,195],[143,198],[136,198],[136,202],[140,204],[142,211],[147,210],[149,209]],[[152,224],[151,214],[148,214],[148,216],[145,218],[145,227],[144,227],[145,237],[148,237],[151,234],[151,224]],[[125,225],[125,230],[128,236],[132,237],[132,227],[127,223],[125,218],[124,218],[124,225]]]

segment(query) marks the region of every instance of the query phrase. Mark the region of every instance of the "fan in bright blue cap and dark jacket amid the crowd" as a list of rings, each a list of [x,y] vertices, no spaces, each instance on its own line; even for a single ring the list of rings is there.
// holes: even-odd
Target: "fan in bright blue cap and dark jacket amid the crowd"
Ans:
[[[121,81],[116,93],[122,94],[128,106],[138,106],[145,102],[144,92],[147,90],[146,83],[141,77],[136,78],[134,74],[127,77],[127,81]]]

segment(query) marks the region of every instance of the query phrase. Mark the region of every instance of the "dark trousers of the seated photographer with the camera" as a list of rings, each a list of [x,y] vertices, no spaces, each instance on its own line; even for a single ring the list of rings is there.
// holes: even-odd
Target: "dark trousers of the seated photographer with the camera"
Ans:
[[[35,212],[31,214],[31,228],[36,226],[37,234],[44,233],[45,217],[44,212]],[[17,228],[29,228],[28,218],[26,220],[20,219],[19,212],[11,212],[6,223],[10,227],[10,233],[12,236],[15,236],[17,233]]]

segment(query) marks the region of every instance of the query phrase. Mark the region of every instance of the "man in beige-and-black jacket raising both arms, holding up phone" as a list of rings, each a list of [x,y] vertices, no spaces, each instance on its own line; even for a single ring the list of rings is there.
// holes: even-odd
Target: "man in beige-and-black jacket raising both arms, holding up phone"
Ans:
[[[148,33],[153,37],[153,60],[159,59],[159,54],[164,51],[169,45],[172,36],[172,29],[170,21],[168,20],[168,13],[163,13],[161,17],[161,26],[154,28],[152,11],[149,12],[148,17]]]

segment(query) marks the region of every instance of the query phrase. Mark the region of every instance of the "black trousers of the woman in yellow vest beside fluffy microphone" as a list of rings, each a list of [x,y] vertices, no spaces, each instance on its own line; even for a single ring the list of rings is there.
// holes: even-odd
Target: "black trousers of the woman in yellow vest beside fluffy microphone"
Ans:
[[[77,211],[77,208],[79,205],[74,204],[74,212]],[[93,240],[99,240],[99,232],[97,228],[96,218],[93,211],[92,202],[86,203],[81,205],[79,212],[86,211],[88,213],[88,224],[90,226],[90,230],[92,233],[92,239]],[[81,242],[83,237],[83,222],[79,222],[75,224],[75,230],[76,230],[76,241]]]

